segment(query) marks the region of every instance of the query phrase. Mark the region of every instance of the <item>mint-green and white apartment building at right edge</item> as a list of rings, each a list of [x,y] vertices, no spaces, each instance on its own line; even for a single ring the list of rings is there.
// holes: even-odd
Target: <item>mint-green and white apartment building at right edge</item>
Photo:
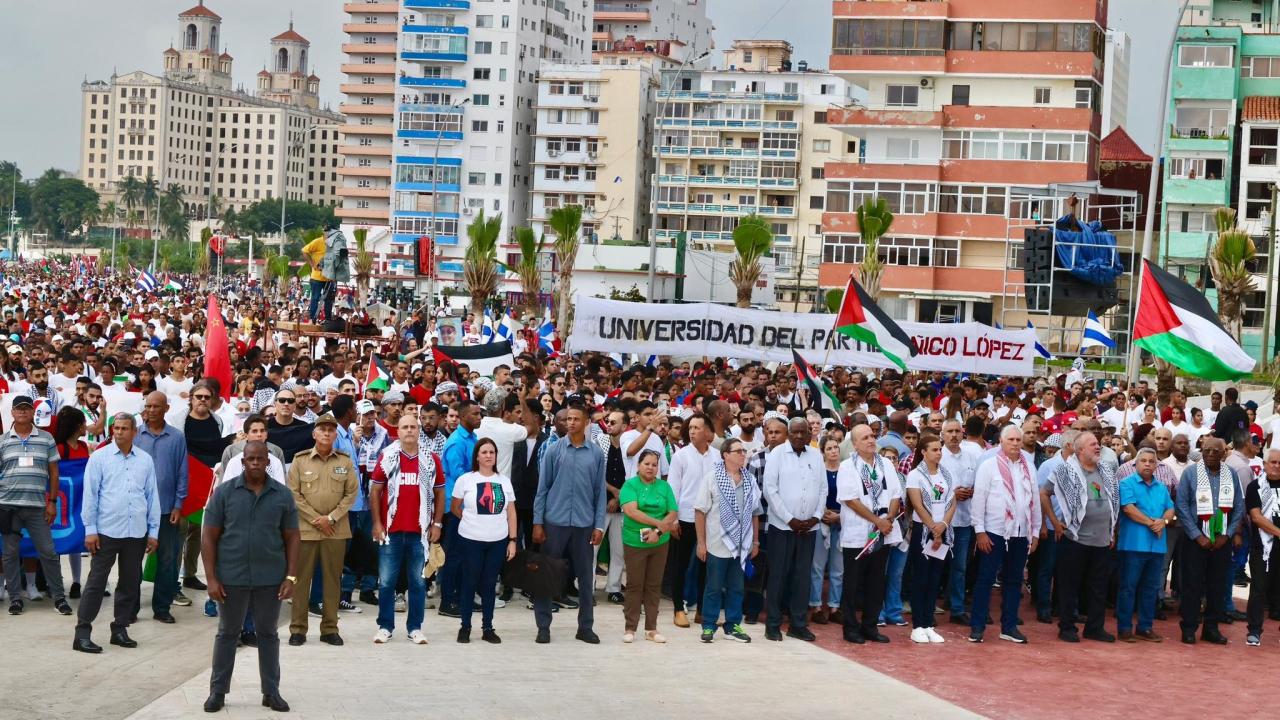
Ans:
[[[1245,297],[1240,345],[1261,356],[1271,186],[1280,182],[1280,17],[1272,3],[1193,1],[1178,28],[1170,67],[1170,136],[1165,145],[1161,259],[1170,272],[1216,291],[1204,259],[1213,213],[1236,209],[1258,249],[1257,292]],[[1274,306],[1272,306],[1274,309]],[[1275,314],[1274,314],[1275,316]],[[1275,337],[1272,328],[1271,336]],[[1271,342],[1268,352],[1275,351]]]

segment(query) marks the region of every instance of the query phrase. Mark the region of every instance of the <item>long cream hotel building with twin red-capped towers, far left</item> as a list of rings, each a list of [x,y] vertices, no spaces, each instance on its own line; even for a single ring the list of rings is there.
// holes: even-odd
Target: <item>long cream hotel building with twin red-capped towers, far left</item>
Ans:
[[[177,37],[163,74],[82,83],[81,179],[108,196],[128,176],[178,184],[193,218],[215,197],[237,210],[282,195],[334,205],[342,115],[319,109],[306,40],[292,27],[273,38],[275,72],[251,95],[233,88],[221,17],[204,0],[179,13]]]

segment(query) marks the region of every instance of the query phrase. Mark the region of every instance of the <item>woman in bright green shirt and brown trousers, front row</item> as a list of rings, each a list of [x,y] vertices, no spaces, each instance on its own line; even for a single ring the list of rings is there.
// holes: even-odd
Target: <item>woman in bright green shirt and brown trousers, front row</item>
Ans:
[[[667,480],[658,477],[658,454],[645,450],[636,462],[636,477],[628,479],[618,493],[622,505],[623,560],[627,566],[626,633],[622,642],[635,642],[644,606],[644,637],[664,643],[658,633],[658,598],[662,596],[662,573],[667,566],[667,541],[676,528],[676,495]]]

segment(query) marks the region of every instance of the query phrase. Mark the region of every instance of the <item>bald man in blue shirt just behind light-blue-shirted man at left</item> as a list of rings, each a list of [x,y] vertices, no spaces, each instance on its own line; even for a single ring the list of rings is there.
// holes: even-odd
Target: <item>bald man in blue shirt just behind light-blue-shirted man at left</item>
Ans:
[[[160,496],[159,547],[156,548],[155,592],[151,611],[161,623],[173,623],[172,605],[191,605],[178,585],[182,565],[182,503],[187,500],[187,438],[182,430],[165,423],[169,397],[160,391],[147,395],[142,405],[142,427],[134,446],[151,456],[156,470],[156,491]]]

